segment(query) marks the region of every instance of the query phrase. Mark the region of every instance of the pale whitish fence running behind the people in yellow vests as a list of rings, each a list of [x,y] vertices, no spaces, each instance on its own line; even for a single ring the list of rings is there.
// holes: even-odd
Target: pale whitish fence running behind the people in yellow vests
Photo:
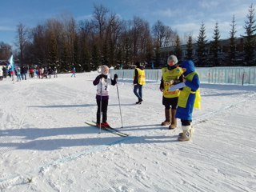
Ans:
[[[254,85],[256,86],[256,66],[251,67],[197,67],[200,82],[215,84]],[[146,80],[159,81],[162,70],[145,70]],[[110,70],[112,76],[118,74],[119,79],[134,78],[134,70]]]

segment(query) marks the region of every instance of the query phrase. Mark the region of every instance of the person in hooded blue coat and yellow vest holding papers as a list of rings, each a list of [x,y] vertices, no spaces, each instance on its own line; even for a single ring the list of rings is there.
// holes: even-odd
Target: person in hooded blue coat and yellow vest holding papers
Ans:
[[[178,135],[178,141],[189,141],[194,127],[191,125],[193,108],[200,109],[200,82],[198,74],[194,69],[194,62],[191,60],[182,62],[182,70],[185,78],[183,79],[184,87],[178,97],[178,108],[176,118],[182,122],[182,133]]]

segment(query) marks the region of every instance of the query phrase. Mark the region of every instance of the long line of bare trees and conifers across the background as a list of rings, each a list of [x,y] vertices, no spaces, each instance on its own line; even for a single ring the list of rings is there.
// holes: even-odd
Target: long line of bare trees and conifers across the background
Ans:
[[[249,6],[244,29],[246,42],[244,54],[246,65],[253,63],[255,50],[254,6]],[[230,24],[229,61],[236,57],[236,24],[233,16]],[[219,66],[218,51],[220,31],[215,23],[210,52],[214,55],[214,66]],[[181,39],[177,32],[163,22],[157,21],[150,28],[149,22],[134,16],[126,21],[118,14],[111,13],[105,6],[94,5],[90,19],[76,22],[71,15],[49,18],[46,22],[29,29],[23,23],[17,26],[16,51],[0,42],[0,59],[14,53],[19,65],[57,66],[60,71],[68,71],[73,66],[78,71],[96,70],[98,66],[130,66],[134,62],[144,62],[161,66],[168,55],[161,52],[162,47],[174,46],[174,53],[182,58]],[[202,22],[196,40],[197,51],[193,53],[193,38],[186,40],[186,58],[197,63],[206,61],[206,27]],[[170,54],[170,53],[167,53]]]

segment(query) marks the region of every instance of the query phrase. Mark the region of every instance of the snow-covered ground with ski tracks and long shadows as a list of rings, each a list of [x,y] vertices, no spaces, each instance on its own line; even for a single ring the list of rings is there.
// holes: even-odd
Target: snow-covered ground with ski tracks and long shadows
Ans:
[[[137,101],[118,82],[123,138],[95,120],[97,73],[0,82],[0,191],[256,191],[256,87],[202,84],[194,137],[178,142],[164,120],[159,82]],[[108,122],[122,126],[117,87]]]

